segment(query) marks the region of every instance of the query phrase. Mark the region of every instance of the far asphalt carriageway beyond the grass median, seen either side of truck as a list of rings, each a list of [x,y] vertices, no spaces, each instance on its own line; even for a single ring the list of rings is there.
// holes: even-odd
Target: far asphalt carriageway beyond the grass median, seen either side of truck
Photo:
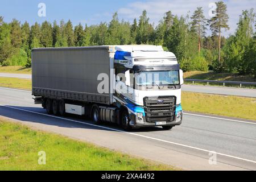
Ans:
[[[13,74],[13,73],[0,73],[0,77],[31,79],[31,75]],[[199,93],[219,94],[219,95],[227,95],[227,96],[241,96],[241,97],[256,98],[256,89],[241,89],[241,88],[230,88],[230,87],[221,87],[221,86],[183,85],[182,90],[187,92],[199,92]]]

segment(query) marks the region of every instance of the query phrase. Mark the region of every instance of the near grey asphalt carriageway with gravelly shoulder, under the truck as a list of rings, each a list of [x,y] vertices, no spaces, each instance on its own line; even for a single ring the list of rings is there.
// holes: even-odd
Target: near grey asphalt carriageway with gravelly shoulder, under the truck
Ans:
[[[256,121],[185,113],[183,124],[171,131],[152,127],[127,133],[74,115],[49,116],[33,104],[31,92],[6,88],[0,88],[0,116],[185,170],[256,170]],[[209,163],[212,154],[217,164]]]

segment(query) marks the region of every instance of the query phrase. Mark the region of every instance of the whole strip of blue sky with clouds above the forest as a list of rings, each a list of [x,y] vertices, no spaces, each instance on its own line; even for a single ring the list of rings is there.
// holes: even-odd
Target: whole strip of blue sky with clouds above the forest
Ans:
[[[44,20],[53,22],[61,19],[67,21],[71,19],[76,25],[82,23],[97,24],[100,22],[109,22],[115,11],[118,12],[119,19],[129,20],[138,18],[144,9],[147,10],[150,22],[158,24],[163,17],[164,12],[171,10],[177,15],[191,15],[196,7],[202,6],[206,18],[209,17],[210,3],[214,0],[0,0],[0,16],[4,16],[6,22],[13,18],[22,23],[27,20],[32,24],[42,23]],[[46,4],[46,17],[38,16],[38,4]],[[256,9],[256,0],[225,0],[228,5],[228,14],[230,16],[230,30],[225,35],[233,34],[236,30],[239,15],[242,10]],[[189,10],[191,11],[189,13]]]

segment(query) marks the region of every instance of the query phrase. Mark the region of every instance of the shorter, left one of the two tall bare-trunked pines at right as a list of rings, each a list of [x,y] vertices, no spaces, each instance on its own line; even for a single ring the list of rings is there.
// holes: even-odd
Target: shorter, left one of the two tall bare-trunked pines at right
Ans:
[[[207,19],[204,16],[203,7],[197,7],[197,10],[191,16],[192,28],[195,28],[198,36],[198,52],[201,52],[201,36],[205,35],[205,30],[207,30],[206,24]]]

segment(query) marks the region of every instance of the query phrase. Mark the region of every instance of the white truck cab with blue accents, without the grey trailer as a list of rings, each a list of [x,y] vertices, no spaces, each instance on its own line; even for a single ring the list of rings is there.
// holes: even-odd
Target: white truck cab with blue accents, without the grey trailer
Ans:
[[[183,72],[172,52],[162,46],[116,46],[114,102],[129,112],[127,127],[180,125]]]

